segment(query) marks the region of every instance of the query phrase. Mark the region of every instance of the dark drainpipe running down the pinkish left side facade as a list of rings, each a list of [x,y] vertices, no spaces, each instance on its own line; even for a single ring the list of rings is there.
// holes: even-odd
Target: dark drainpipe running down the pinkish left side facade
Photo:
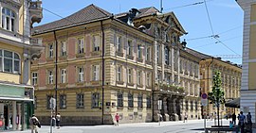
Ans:
[[[54,34],[54,40],[56,43],[56,50],[55,50],[55,99],[56,99],[56,107],[55,107],[55,115],[57,114],[58,110],[58,102],[57,102],[57,83],[58,83],[58,41],[56,37],[56,31],[53,31]]]

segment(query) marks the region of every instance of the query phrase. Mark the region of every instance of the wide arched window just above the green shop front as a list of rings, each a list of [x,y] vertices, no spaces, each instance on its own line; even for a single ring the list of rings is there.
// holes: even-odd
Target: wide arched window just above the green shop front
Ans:
[[[20,56],[14,52],[0,50],[0,72],[20,73]]]

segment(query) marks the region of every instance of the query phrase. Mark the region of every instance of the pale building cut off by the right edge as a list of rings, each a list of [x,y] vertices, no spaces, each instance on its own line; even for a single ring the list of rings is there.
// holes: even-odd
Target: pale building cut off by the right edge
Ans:
[[[244,9],[243,75],[240,109],[249,111],[252,123],[256,123],[256,0],[237,0]]]

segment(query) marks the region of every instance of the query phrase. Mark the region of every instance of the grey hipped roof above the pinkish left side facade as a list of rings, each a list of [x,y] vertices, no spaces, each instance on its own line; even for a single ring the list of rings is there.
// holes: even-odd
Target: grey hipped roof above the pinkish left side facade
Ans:
[[[94,20],[104,19],[112,16],[108,11],[98,8],[95,5],[89,5],[81,10],[67,16],[61,20],[54,21],[48,23],[46,25],[35,26],[32,30],[38,33],[44,33],[47,31],[55,30],[57,28],[70,26],[70,25],[78,25],[82,23],[91,22]],[[33,33],[33,32],[32,32]]]

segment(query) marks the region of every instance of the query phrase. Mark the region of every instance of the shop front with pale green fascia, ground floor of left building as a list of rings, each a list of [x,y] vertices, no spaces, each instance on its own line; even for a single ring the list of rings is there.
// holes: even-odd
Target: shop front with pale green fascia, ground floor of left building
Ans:
[[[24,130],[33,113],[33,87],[0,83],[0,132]]]

